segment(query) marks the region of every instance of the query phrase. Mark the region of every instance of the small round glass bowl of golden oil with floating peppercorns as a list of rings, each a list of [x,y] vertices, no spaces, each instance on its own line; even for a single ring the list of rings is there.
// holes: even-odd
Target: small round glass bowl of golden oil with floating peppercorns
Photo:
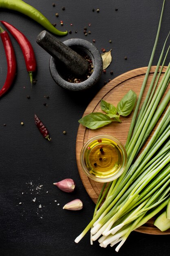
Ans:
[[[84,144],[80,162],[89,178],[97,182],[110,182],[124,172],[126,149],[115,137],[97,135]]]

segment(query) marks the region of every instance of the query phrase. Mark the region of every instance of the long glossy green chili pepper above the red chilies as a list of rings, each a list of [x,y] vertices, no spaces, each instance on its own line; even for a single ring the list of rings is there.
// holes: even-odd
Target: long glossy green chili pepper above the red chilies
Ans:
[[[60,31],[56,29],[51,22],[42,14],[40,11],[35,9],[29,4],[22,0],[0,0],[0,8],[10,9],[13,11],[19,11],[20,13],[29,16],[36,22],[40,23],[44,28],[48,29],[51,33],[58,36],[65,36],[68,34],[67,31]]]

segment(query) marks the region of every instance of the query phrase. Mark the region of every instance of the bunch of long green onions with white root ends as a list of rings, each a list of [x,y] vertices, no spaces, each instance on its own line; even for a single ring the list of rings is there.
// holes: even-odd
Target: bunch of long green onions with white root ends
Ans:
[[[164,3],[165,0],[155,44],[125,145],[128,156],[126,170],[108,186],[104,184],[93,219],[82,234],[75,239],[76,243],[91,229],[91,244],[97,239],[101,247],[119,243],[115,249],[118,252],[133,230],[144,225],[168,203],[170,194],[170,106],[168,106],[170,90],[167,87],[170,82],[170,63],[162,78],[161,72],[170,49],[168,47],[163,58],[169,34],[139,110],[159,38]],[[146,143],[149,135],[150,139]],[[99,208],[103,200],[104,203]]]

